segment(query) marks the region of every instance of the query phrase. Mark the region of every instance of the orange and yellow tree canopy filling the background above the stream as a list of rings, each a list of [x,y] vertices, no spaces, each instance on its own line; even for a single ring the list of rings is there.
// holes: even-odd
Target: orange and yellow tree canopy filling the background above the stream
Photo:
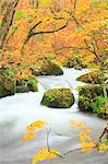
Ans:
[[[0,24],[7,37],[0,36],[0,67],[13,68],[19,78],[23,70],[31,73],[38,58],[64,65],[77,56],[88,66],[107,52],[107,3],[98,0],[2,0]]]

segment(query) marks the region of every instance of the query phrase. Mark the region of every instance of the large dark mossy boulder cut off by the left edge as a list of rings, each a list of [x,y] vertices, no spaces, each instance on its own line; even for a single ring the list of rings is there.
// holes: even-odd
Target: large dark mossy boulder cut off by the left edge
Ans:
[[[15,94],[15,80],[8,71],[0,69],[0,98]]]

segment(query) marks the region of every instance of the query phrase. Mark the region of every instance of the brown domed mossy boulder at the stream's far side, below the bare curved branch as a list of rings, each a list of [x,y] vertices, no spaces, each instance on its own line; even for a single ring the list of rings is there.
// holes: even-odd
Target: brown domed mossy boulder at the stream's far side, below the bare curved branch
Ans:
[[[32,68],[35,75],[60,75],[63,74],[62,69],[56,63],[47,59],[38,60],[38,63]]]

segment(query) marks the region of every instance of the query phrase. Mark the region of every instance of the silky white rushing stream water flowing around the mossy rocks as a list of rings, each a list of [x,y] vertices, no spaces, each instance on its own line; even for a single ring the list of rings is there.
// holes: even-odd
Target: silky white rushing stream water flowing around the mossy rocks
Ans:
[[[85,121],[98,138],[105,120],[94,115],[83,114],[77,108],[76,86],[82,82],[75,79],[88,70],[63,69],[60,77],[38,77],[39,92],[15,94],[0,99],[0,164],[32,164],[33,156],[46,145],[46,131],[40,131],[38,138],[23,141],[25,128],[37,119],[47,120],[51,127],[50,147],[61,153],[80,147],[77,134],[72,131],[70,119]],[[75,96],[74,105],[69,109],[48,108],[40,105],[45,91],[53,87],[70,87]],[[53,159],[48,164],[107,164],[107,154],[97,152],[87,154],[81,151],[68,154],[65,159]]]

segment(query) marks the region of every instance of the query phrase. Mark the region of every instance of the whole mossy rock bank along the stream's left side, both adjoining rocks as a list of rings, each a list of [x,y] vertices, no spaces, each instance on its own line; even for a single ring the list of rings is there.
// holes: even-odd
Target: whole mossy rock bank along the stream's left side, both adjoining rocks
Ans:
[[[37,92],[37,79],[31,74],[27,79],[16,80],[9,69],[0,69],[0,98],[15,93]]]

